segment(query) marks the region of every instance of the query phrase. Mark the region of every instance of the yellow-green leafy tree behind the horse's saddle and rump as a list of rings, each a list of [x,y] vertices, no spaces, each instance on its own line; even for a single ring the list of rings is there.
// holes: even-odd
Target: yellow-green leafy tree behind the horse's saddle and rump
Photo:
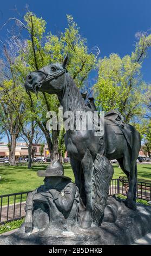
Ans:
[[[96,105],[103,111],[118,109],[127,123],[143,113],[143,94],[147,84],[142,80],[141,66],[151,46],[151,34],[137,33],[138,41],[131,56],[121,58],[112,53],[99,61],[99,77],[94,86]]]

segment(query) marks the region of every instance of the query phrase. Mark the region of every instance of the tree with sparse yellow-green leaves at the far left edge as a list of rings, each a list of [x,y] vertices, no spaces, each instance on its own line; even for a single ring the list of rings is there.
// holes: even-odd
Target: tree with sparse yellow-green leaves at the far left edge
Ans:
[[[1,96],[1,123],[3,130],[8,137],[9,159],[10,165],[15,165],[15,148],[16,139],[21,130],[18,113],[23,121],[24,119],[24,92],[21,88],[21,83],[18,80],[18,74],[14,69],[14,59],[16,58],[16,48],[12,52],[13,44],[8,44],[6,47],[3,44],[3,61],[1,61],[0,71],[0,96]]]

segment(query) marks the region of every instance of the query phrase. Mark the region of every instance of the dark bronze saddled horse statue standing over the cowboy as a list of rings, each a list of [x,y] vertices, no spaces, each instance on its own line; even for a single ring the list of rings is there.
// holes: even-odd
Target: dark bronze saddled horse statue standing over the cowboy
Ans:
[[[31,72],[27,76],[25,89],[37,93],[56,94],[65,111],[94,111],[92,102],[88,105],[84,101],[80,90],[63,64],[50,64],[44,68]],[[104,122],[104,136],[95,136],[94,130],[68,130],[64,136],[65,147],[70,156],[70,163],[75,175],[75,183],[80,188],[81,197],[86,205],[86,212],[81,222],[82,228],[91,226],[91,176],[96,155],[106,156],[109,160],[117,159],[121,169],[129,180],[129,190],[126,199],[128,208],[136,209],[136,159],[141,147],[140,133],[135,127],[124,124],[119,112],[106,114]],[[84,186],[83,186],[84,185]],[[84,197],[84,193],[86,197]]]

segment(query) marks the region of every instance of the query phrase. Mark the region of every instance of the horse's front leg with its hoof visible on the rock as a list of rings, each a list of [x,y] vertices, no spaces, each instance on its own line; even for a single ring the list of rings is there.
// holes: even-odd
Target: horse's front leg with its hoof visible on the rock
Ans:
[[[87,149],[86,154],[84,155],[82,161],[82,168],[84,174],[84,187],[86,191],[86,213],[84,214],[81,221],[81,228],[89,228],[91,227],[91,212],[92,212],[92,196],[91,196],[91,178],[93,172],[93,159],[90,154],[90,150]]]

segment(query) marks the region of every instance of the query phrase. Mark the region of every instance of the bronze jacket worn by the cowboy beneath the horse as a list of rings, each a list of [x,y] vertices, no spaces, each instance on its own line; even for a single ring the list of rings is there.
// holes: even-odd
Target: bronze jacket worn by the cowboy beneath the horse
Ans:
[[[25,211],[34,212],[35,205],[46,204],[49,206],[49,218],[55,220],[75,220],[78,218],[80,208],[84,205],[79,195],[77,186],[69,182],[61,191],[57,189],[47,190],[44,185],[28,194]],[[36,206],[37,207],[37,206]]]

